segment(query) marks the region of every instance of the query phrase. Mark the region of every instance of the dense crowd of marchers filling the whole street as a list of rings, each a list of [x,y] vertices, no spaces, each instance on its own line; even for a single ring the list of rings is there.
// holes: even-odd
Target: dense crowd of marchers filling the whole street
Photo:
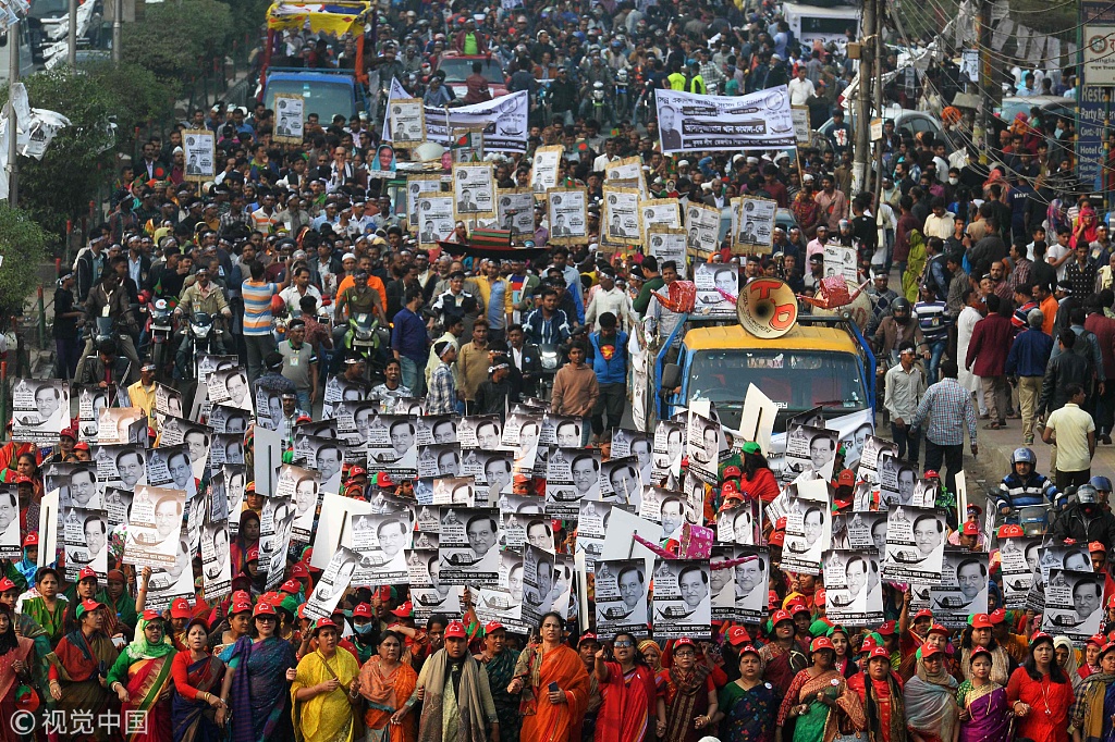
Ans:
[[[258,414],[255,424],[280,430],[288,446],[297,426],[319,419],[328,380],[342,377],[385,409],[418,398],[428,416],[503,418],[518,402],[549,397],[551,412],[582,419],[580,445],[607,460],[628,406],[629,344],[658,348],[683,321],[668,292],[691,267],[633,248],[600,250],[604,168],[639,157],[652,196],[725,207],[746,194],[789,209],[794,223],[774,231],[768,254],[726,247],[707,256],[740,263],[740,282],[776,276],[812,295],[824,279],[825,245],[855,248],[861,277],[870,280],[863,330],[881,362],[880,411],[902,459],[917,468],[924,442],[925,478],[935,479],[942,463],[949,469],[938,504],[953,509],[950,543],[986,558],[987,612],[946,628],[931,611],[911,608],[908,585],[881,583],[880,625],[831,622],[823,577],[778,568],[780,519],[767,523],[760,539],[772,564],[766,619],[716,622],[699,641],[648,632],[598,637],[591,570],[588,604],[545,614],[529,636],[482,622],[471,588],[459,585],[459,615],[416,622],[406,585],[360,585],[346,590],[332,616],[313,621],[304,607],[321,569],[306,544],[287,555],[280,589],[263,589],[264,498],[254,482],[233,514],[241,528],[230,544],[229,594],[205,595],[195,553],[186,555],[194,598],[152,609],[156,575],[118,554],[104,575],[86,567],[71,584],[61,559],[48,555],[48,566],[38,566],[42,468],[89,461],[97,443],[67,422],[57,446],[0,448],[0,486],[18,496],[0,505],[0,517],[7,528],[18,507],[23,551],[3,564],[0,579],[0,740],[1108,739],[1115,516],[1111,482],[1093,477],[1092,457],[1097,443],[1111,443],[1115,426],[1115,246],[1098,202],[1072,177],[1064,136],[1072,121],[1038,109],[1011,121],[993,152],[1001,165],[989,176],[947,159],[963,146],[959,110],[941,113],[937,137],[886,121],[876,143],[876,201],[874,184],[852,192],[854,133],[843,110],[833,110],[854,75],[852,60],[836,45],[799,43],[773,8],[745,13],[701,2],[672,16],[661,4],[622,2],[604,12],[561,2],[473,14],[463,4],[392,7],[390,22],[377,26],[370,67],[382,87],[395,78],[444,105],[454,94],[435,70],[450,48],[500,57],[507,89],[531,91],[532,126],[525,156],[489,157],[496,182],[530,186],[533,150],[564,145],[559,185],[585,189],[589,240],[549,244],[540,208],[534,232],[516,235],[520,255],[469,252],[464,223],[450,241],[419,244],[407,205],[374,175],[381,148],[366,118],[319,124],[311,114],[306,141],[295,146],[272,140],[273,113],[263,106],[193,111],[190,128],[217,134],[217,177],[200,195],[184,182],[185,125],[166,141],[146,143],[124,168],[107,221],[58,281],[58,378],[126,388],[157,437],[165,424],[155,410],[157,382],[177,385],[196,374],[185,332],[172,335],[164,355],[153,352],[157,323],[145,313],[166,302],[182,328],[197,313],[214,319],[209,351],[239,357],[256,400],[261,390],[281,400],[281,413]],[[289,64],[353,64],[351,39],[291,32],[282,43]],[[1065,87],[1059,72],[1036,71],[1050,89]],[[788,84],[814,128],[830,114],[833,121],[798,149],[796,164],[776,152],[663,156],[652,116],[637,126],[631,107],[628,118],[601,121],[578,105],[602,84],[614,110],[620,74],[632,87],[716,86],[725,95]],[[475,74],[465,102],[486,99],[488,88]],[[901,285],[892,289],[894,271]],[[359,315],[381,331],[370,348],[352,342]],[[541,362],[540,346],[549,345],[561,353],[552,374]],[[1104,618],[1083,646],[1040,631],[1032,609],[1006,605],[991,546],[996,535],[1000,545],[1021,536],[1018,527],[986,533],[978,508],[960,518],[947,497],[964,431],[976,451],[977,416],[989,429],[1019,420],[1024,446],[1036,437],[1053,445],[1050,478],[1036,471],[1032,450],[1015,451],[996,506],[1007,516],[1055,504],[1050,537],[1088,545]],[[252,471],[252,429],[243,432]],[[846,512],[857,473],[843,456],[837,451],[830,502]],[[688,514],[695,525],[715,528],[725,512],[779,495],[755,443],[733,450],[718,471],[704,511]],[[392,481],[375,461],[346,461],[342,476],[346,497],[414,498],[413,482]],[[542,491],[540,484],[516,478],[516,492]],[[575,550],[575,520],[554,520],[552,534],[547,550]],[[680,545],[658,548],[672,556]],[[712,580],[723,580],[725,567],[711,567]],[[9,722],[22,712],[33,715],[33,731]],[[105,722],[105,714],[128,712],[142,713],[142,731],[122,717]],[[51,724],[57,736],[49,736]]]

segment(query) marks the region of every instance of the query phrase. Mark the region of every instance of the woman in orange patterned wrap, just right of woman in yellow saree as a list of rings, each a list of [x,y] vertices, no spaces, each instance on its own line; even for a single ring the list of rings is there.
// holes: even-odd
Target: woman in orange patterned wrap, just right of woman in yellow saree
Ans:
[[[368,742],[415,742],[418,736],[417,714],[396,717],[418,683],[418,673],[400,661],[401,655],[403,636],[387,631],[379,638],[377,654],[360,668]]]

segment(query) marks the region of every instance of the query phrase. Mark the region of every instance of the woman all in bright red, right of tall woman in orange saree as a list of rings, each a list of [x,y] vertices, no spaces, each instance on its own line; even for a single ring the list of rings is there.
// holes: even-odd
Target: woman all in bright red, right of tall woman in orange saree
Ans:
[[[612,642],[613,661],[597,652],[597,681],[602,703],[597,715],[597,742],[643,742],[650,729],[658,692],[655,672],[636,651],[634,636],[619,633]]]

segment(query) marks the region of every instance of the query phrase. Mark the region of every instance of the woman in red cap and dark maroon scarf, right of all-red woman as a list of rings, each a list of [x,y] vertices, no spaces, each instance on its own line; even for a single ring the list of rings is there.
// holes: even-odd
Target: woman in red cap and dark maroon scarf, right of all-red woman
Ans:
[[[697,664],[692,640],[673,643],[669,668],[658,673],[657,680],[660,742],[697,742],[705,736],[719,702],[708,666]]]

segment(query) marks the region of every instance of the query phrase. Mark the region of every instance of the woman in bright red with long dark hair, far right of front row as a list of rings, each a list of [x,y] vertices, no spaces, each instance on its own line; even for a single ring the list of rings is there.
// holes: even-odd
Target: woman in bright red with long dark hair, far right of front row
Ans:
[[[1007,699],[1015,712],[1015,734],[1034,742],[1068,742],[1073,684],[1057,665],[1053,637],[1030,637],[1030,655],[1011,674]]]

